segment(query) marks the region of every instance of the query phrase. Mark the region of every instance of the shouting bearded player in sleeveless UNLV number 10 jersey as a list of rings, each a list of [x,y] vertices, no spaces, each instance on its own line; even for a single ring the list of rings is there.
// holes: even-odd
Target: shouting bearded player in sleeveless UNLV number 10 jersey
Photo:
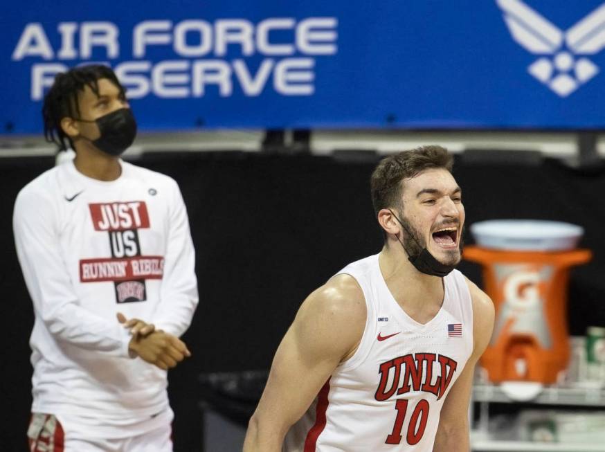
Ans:
[[[464,206],[451,167],[438,146],[379,163],[383,249],[300,307],[244,452],[469,451],[473,370],[494,306],[454,269]]]

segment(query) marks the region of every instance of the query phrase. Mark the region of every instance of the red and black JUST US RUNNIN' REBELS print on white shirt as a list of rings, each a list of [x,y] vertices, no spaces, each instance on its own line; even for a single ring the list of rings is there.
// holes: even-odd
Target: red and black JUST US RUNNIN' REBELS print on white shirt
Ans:
[[[163,277],[164,258],[141,253],[138,230],[150,227],[145,201],[89,204],[93,228],[109,235],[111,257],[80,260],[80,282],[113,281],[118,303],[145,301],[145,280]]]

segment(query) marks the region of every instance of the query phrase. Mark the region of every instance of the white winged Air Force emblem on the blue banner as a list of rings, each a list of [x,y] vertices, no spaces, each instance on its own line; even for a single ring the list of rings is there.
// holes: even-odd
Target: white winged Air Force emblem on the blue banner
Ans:
[[[496,0],[513,39],[540,55],[527,71],[562,98],[588,82],[599,67],[583,55],[605,46],[605,3],[562,31],[521,0]]]

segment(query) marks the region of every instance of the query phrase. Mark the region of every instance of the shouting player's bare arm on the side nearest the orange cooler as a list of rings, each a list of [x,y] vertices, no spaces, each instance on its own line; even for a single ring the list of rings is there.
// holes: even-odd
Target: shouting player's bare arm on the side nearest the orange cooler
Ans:
[[[475,365],[485,351],[494,329],[494,304],[489,296],[467,280],[473,300],[473,354],[452,386],[441,409],[433,452],[468,452],[469,401]]]

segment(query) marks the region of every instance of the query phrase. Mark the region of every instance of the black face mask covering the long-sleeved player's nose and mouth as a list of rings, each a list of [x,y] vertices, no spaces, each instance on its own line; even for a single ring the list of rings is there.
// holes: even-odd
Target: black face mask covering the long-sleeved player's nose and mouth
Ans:
[[[101,136],[91,143],[111,156],[122,154],[132,145],[136,136],[136,121],[129,108],[120,108],[94,121],[79,120],[84,123],[96,123]]]

